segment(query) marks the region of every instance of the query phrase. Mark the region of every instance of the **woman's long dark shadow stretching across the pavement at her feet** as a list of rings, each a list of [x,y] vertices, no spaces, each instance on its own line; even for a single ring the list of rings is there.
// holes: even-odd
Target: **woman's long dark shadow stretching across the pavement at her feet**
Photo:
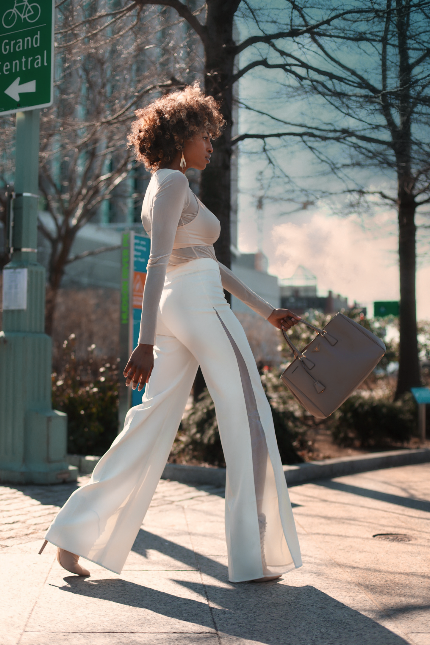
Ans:
[[[175,623],[190,622],[206,633],[217,630],[226,637],[267,645],[406,645],[406,640],[375,620],[313,586],[295,587],[277,582],[231,584],[223,564],[141,530],[133,551],[146,557],[147,550],[156,550],[188,567],[186,575],[181,576],[181,571],[172,570],[169,578],[189,590],[192,598],[124,579],[67,576],[64,577],[67,586],[60,589],[148,610]],[[193,569],[207,574],[203,581],[210,576],[209,581],[203,583],[196,581],[195,577],[191,580],[189,571]],[[166,624],[165,620],[161,622]],[[101,625],[99,627],[102,628]],[[112,630],[112,624],[109,628]],[[190,636],[191,632],[195,633],[195,627],[190,630]]]

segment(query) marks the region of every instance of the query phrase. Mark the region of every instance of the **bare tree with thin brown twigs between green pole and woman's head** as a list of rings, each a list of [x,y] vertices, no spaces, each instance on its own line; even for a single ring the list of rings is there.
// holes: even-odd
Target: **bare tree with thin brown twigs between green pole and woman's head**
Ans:
[[[72,254],[77,233],[99,213],[103,202],[113,197],[130,201],[132,192],[124,180],[133,170],[132,152],[126,146],[133,110],[154,94],[184,84],[171,74],[171,58],[184,35],[166,10],[144,14],[135,4],[134,11],[130,5],[125,11],[109,11],[108,6],[106,0],[71,0],[57,7],[55,98],[52,107],[41,112],[39,166],[39,188],[49,213],[48,220],[39,219],[39,230],[50,245],[46,333],[52,333],[66,266],[116,248]],[[187,54],[175,68],[180,75],[183,68],[194,76],[199,52]],[[3,124],[8,146],[0,173],[5,186],[12,184],[14,119],[5,117]],[[2,195],[4,208],[5,190]]]

